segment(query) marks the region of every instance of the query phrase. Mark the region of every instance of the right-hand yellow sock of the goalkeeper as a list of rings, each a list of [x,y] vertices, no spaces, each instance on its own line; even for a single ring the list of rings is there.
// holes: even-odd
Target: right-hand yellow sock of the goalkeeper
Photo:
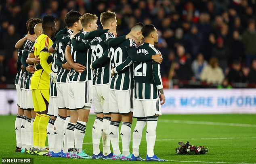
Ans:
[[[49,122],[50,116],[41,114],[38,130],[39,130],[39,148],[45,148],[45,140],[47,137],[47,125]]]

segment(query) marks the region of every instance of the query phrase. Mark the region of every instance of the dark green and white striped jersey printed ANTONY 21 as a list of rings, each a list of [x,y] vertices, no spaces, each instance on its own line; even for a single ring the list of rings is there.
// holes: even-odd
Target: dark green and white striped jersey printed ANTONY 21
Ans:
[[[154,45],[143,43],[137,48],[137,55],[161,53]],[[160,65],[155,61],[134,62],[135,99],[159,98],[158,89],[163,88]]]

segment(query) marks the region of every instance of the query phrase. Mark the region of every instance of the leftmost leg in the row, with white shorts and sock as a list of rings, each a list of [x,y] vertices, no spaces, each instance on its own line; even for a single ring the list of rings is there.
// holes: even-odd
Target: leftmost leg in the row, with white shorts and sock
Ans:
[[[20,101],[21,101],[21,91],[19,88],[19,84],[15,84],[16,91],[17,91],[17,106],[18,106],[18,113],[15,119],[15,134],[16,134],[16,149],[15,152],[21,152],[21,122],[23,120],[23,109],[20,108]]]

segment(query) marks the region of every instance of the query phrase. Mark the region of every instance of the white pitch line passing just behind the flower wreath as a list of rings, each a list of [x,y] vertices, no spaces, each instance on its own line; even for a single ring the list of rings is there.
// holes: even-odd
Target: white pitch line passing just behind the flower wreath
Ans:
[[[178,139],[156,139],[156,141],[221,140],[221,139],[256,139],[256,137],[221,137],[221,138],[189,138],[189,139],[178,138]],[[142,141],[146,141],[146,140],[142,140]],[[119,141],[119,142],[121,142],[121,141]],[[92,142],[84,142],[83,144],[92,144]]]

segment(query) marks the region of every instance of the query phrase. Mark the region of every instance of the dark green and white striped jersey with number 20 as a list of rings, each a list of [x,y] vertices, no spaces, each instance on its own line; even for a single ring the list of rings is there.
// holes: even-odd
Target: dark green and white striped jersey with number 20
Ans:
[[[122,64],[128,57],[126,48],[136,45],[135,41],[132,39],[126,39],[119,45],[111,47],[109,49],[111,56],[111,67],[116,68]],[[133,61],[130,60],[126,66],[119,70],[118,74],[114,74],[111,78],[109,89],[111,90],[130,90],[134,88],[134,78],[133,78]]]

